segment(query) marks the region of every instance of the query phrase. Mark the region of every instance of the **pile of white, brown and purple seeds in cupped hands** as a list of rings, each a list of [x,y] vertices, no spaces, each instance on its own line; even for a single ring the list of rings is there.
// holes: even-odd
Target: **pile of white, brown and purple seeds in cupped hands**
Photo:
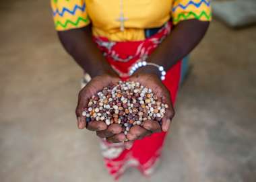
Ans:
[[[124,134],[127,134],[131,126],[142,125],[146,120],[161,124],[166,108],[168,105],[162,103],[152,89],[133,81],[119,81],[117,85],[108,85],[92,96],[82,115],[86,116],[86,122],[121,124]]]

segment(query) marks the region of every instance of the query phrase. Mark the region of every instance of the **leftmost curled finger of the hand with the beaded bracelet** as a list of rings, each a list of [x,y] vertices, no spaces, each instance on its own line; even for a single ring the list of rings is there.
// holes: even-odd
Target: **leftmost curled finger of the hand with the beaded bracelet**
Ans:
[[[132,126],[127,134],[128,140],[137,140],[139,138],[143,138],[145,136],[150,135],[151,132],[146,130],[145,128],[142,128],[141,126]]]

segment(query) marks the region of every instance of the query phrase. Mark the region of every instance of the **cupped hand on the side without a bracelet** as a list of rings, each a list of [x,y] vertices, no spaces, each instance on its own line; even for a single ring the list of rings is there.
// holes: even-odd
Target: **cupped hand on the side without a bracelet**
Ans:
[[[79,91],[77,107],[75,114],[77,116],[77,127],[79,129],[87,128],[96,131],[100,138],[106,138],[109,142],[123,142],[125,135],[122,132],[120,124],[111,124],[107,126],[104,122],[92,121],[86,123],[86,117],[82,116],[82,112],[88,106],[89,99],[92,95],[110,84],[116,84],[120,79],[110,75],[100,75],[94,77],[81,91]]]

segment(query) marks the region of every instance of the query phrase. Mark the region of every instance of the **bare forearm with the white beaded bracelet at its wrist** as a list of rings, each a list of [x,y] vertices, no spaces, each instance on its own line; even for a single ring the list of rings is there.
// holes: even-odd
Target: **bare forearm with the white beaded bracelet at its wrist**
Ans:
[[[170,69],[171,66],[187,56],[199,44],[208,26],[209,22],[198,21],[196,19],[181,21],[174,27],[162,44],[150,55],[147,61],[164,66],[166,70]],[[150,66],[146,66],[140,69],[140,71],[160,74]]]

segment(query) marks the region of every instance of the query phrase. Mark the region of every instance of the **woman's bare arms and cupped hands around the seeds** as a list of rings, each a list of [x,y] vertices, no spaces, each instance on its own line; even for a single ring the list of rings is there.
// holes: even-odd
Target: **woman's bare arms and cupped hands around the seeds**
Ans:
[[[147,61],[162,65],[165,70],[170,69],[171,66],[189,54],[199,44],[209,24],[207,21],[198,21],[196,19],[179,22]],[[125,135],[121,132],[119,124],[112,124],[110,126],[106,126],[104,122],[90,122],[86,124],[86,120],[82,116],[82,111],[92,95],[109,83],[117,83],[119,81],[118,75],[113,71],[100,50],[98,50],[96,44],[92,41],[90,26],[58,32],[58,35],[65,50],[92,77],[90,83],[79,92],[76,108],[78,128],[96,131],[97,136],[106,138],[108,142],[123,142]],[[145,66],[136,71],[129,79],[154,89],[156,95],[162,97],[164,102],[169,105],[163,118],[162,126],[156,121],[146,121],[143,122],[143,126],[133,126],[127,134],[127,139],[130,141],[141,139],[154,132],[168,131],[174,116],[174,109],[170,101],[170,93],[160,81],[159,74],[159,71],[153,66]],[[131,142],[126,142],[126,145],[129,148]]]

